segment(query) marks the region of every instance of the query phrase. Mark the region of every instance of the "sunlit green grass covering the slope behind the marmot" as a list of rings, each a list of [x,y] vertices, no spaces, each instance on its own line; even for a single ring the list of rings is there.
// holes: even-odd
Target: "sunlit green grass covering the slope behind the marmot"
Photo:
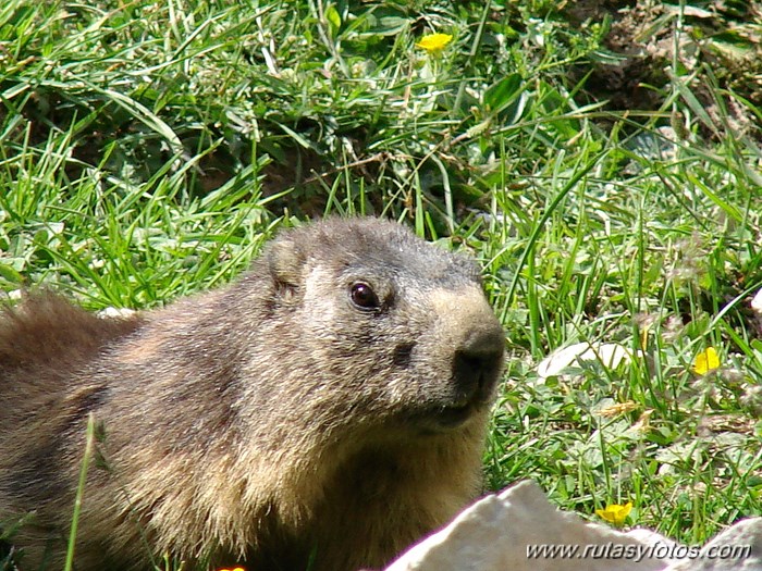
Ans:
[[[762,107],[717,59],[751,36],[691,51],[681,9],[659,104],[615,110],[610,22],[540,0],[3,2],[0,288],[151,308],[296,220],[398,219],[470,249],[504,323],[489,488],[704,542],[762,513]],[[539,376],[575,343],[631,359]]]

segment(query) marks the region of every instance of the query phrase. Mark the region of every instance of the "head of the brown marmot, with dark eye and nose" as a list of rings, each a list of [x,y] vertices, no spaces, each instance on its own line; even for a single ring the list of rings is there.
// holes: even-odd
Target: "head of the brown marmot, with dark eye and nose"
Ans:
[[[428,434],[483,420],[505,342],[470,258],[392,222],[329,219],[281,234],[259,263],[324,421]]]

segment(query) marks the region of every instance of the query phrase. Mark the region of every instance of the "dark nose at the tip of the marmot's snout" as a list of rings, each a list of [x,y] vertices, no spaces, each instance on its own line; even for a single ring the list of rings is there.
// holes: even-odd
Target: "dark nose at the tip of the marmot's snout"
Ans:
[[[453,359],[453,381],[464,400],[491,397],[503,369],[504,346],[503,331],[496,320],[494,324],[488,322],[466,332]]]

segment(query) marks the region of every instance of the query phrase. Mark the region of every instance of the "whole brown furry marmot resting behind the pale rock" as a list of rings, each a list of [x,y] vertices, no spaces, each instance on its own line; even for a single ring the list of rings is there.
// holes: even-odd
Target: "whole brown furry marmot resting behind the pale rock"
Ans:
[[[476,263],[392,222],[282,233],[236,283],[130,319],[30,295],[0,320],[0,522],[61,569],[151,553],[383,567],[480,492],[505,339]]]

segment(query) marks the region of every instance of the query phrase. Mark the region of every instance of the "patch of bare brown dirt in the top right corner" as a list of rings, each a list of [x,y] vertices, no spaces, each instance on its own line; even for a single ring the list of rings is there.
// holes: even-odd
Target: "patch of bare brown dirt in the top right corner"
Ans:
[[[680,9],[652,0],[582,0],[563,12],[573,25],[610,22],[602,46],[610,58],[592,63],[585,84],[591,100],[606,100],[617,111],[657,110],[673,95],[677,76],[713,121],[729,116],[738,133],[759,128],[750,105],[740,101],[762,105],[762,2],[692,2]],[[578,69],[575,78],[590,71]],[[720,102],[718,89],[742,99]]]

